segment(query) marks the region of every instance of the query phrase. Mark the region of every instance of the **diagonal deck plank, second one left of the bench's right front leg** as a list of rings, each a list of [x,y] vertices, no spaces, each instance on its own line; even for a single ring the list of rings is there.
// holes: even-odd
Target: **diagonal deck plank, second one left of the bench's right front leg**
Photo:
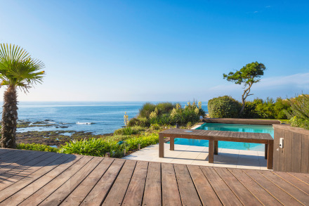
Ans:
[[[282,205],[280,202],[278,202],[270,193],[265,191],[261,186],[259,186],[253,179],[250,178],[250,176],[246,175],[245,172],[242,171],[242,169],[232,169],[228,168],[228,170],[234,175],[237,180],[246,187],[252,195],[256,199],[258,199],[263,205]],[[251,205],[251,204],[249,204]]]

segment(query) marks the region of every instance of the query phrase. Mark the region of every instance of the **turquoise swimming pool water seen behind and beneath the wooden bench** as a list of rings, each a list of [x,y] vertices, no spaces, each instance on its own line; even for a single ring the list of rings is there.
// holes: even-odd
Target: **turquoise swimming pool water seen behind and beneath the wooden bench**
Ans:
[[[274,129],[272,126],[265,125],[253,125],[253,124],[221,124],[221,123],[205,123],[197,129],[204,130],[219,130],[219,131],[240,131],[240,132],[256,132],[256,133],[268,133],[274,138]],[[176,144],[190,145],[190,146],[209,146],[208,140],[202,139],[175,139]],[[219,148],[228,148],[235,150],[257,150],[263,151],[265,149],[264,144],[260,143],[242,143],[232,141],[219,141]]]

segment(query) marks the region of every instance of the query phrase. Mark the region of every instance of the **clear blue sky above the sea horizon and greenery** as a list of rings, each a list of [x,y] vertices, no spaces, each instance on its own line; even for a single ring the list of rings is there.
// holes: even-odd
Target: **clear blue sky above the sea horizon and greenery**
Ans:
[[[20,101],[208,101],[242,86],[223,73],[267,67],[254,96],[309,93],[306,1],[6,1],[0,42],[46,65]],[[1,88],[3,91],[4,88]]]

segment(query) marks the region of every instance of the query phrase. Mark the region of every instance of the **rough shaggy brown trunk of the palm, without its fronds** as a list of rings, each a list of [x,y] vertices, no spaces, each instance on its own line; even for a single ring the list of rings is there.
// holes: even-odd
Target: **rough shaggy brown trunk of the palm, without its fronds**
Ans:
[[[1,147],[16,148],[17,92],[15,86],[8,86],[4,92],[2,112]]]

